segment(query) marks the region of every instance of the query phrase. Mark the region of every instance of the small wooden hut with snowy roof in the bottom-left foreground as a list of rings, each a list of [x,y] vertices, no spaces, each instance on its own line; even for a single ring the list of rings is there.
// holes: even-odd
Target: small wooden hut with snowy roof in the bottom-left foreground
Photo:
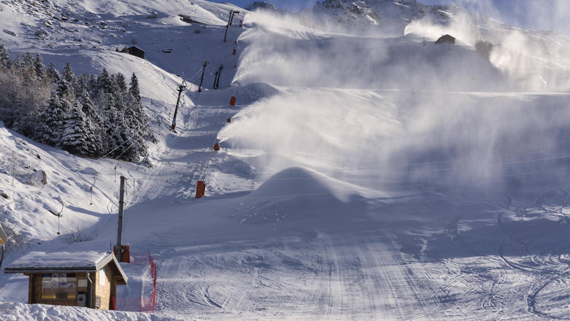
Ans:
[[[29,276],[28,303],[115,310],[127,276],[112,252],[29,252],[4,268]]]

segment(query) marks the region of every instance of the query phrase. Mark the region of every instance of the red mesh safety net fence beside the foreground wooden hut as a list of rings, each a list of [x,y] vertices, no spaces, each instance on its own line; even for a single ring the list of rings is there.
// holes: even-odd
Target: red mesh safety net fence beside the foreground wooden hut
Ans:
[[[140,298],[111,298],[114,300],[114,302],[111,302],[111,306],[114,305],[116,310],[119,311],[154,313],[154,308],[156,307],[156,263],[154,263],[150,251],[131,252],[131,263],[148,264],[150,278],[152,279],[152,292],[143,294]]]

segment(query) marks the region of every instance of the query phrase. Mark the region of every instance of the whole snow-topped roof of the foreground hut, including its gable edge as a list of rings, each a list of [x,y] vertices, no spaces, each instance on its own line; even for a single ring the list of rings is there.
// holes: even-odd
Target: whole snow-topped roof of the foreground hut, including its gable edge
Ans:
[[[111,266],[117,284],[127,284],[127,276],[108,251],[29,252],[4,268],[4,273],[91,272]]]

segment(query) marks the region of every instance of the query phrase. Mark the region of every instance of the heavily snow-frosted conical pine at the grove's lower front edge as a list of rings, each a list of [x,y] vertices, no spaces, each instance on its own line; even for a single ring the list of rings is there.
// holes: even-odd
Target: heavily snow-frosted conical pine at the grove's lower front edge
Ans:
[[[80,102],[74,102],[67,113],[65,130],[58,146],[71,154],[88,155],[90,146],[87,137],[86,117],[82,105]]]

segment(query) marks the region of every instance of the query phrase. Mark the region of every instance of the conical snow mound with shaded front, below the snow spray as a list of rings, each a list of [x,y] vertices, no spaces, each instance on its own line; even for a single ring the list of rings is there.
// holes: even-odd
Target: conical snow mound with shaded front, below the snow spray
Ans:
[[[228,213],[242,223],[284,222],[287,219],[352,219],[375,193],[359,192],[364,187],[342,182],[307,167],[288,167],[272,175]]]

